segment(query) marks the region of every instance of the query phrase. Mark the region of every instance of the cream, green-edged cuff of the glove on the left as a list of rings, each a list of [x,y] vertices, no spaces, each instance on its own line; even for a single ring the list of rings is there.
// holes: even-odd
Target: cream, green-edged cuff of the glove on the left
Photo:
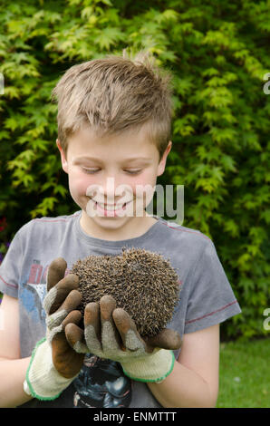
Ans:
[[[67,379],[57,372],[53,365],[52,348],[45,338],[36,344],[25,378],[34,398],[55,400],[75,377]]]

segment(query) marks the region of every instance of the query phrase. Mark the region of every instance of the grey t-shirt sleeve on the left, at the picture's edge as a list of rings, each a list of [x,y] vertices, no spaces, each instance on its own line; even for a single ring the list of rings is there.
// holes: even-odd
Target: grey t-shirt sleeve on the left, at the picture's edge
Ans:
[[[17,231],[0,265],[0,292],[18,297],[23,258],[22,232]]]

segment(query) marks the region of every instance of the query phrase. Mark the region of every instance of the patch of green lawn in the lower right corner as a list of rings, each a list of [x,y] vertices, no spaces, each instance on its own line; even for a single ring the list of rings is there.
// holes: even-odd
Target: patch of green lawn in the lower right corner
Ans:
[[[222,343],[217,408],[270,407],[270,339]]]

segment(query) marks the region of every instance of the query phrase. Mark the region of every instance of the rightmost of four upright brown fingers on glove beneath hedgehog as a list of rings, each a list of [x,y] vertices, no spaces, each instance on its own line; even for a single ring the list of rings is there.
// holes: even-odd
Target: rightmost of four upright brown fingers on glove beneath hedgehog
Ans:
[[[122,308],[116,308],[112,314],[114,324],[116,325],[124,346],[130,351],[147,351],[144,340],[137,331],[136,324],[130,315]],[[150,351],[152,352],[152,350]]]

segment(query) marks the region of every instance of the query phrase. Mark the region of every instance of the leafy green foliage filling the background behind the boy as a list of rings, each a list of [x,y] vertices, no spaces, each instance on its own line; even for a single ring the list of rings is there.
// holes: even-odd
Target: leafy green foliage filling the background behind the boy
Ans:
[[[269,1],[14,0],[0,12],[0,217],[9,236],[70,214],[53,86],[124,48],[174,75],[173,150],[160,182],[185,186],[185,222],[213,238],[243,310],[227,337],[265,334],[269,306]],[[268,282],[267,282],[268,279]]]

